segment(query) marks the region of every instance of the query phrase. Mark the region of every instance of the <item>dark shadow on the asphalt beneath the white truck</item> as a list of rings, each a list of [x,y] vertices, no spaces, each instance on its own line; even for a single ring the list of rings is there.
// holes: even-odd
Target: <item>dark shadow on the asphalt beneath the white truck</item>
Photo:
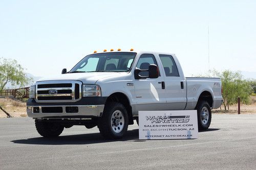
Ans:
[[[217,131],[220,129],[208,129],[200,132]],[[45,144],[45,145],[61,145],[61,144],[93,144],[93,143],[105,143],[114,141],[145,141],[139,139],[139,129],[129,130],[122,139],[108,140],[104,139],[100,133],[88,133],[79,135],[66,135],[55,138],[35,137],[28,139],[12,140],[13,143],[19,144]],[[178,139],[179,140],[179,139]],[[180,139],[183,140],[183,139]],[[184,139],[186,140],[186,139]]]

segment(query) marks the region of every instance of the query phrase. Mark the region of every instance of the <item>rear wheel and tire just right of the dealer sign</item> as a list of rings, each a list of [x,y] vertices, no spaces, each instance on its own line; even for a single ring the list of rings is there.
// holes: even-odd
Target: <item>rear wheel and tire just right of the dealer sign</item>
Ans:
[[[198,129],[207,130],[211,122],[211,110],[208,102],[199,101],[197,107]]]

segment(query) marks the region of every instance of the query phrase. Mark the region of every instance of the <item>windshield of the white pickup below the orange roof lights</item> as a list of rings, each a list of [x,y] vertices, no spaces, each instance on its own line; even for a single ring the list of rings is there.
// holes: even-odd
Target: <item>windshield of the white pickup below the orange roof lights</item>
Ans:
[[[68,73],[130,71],[136,54],[132,52],[91,54],[84,57]]]

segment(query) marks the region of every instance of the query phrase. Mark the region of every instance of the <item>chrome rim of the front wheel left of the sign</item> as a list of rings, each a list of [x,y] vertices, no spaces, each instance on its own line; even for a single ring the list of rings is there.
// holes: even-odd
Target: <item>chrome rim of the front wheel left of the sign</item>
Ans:
[[[120,133],[124,127],[124,116],[120,110],[116,110],[111,116],[111,128],[115,133]]]

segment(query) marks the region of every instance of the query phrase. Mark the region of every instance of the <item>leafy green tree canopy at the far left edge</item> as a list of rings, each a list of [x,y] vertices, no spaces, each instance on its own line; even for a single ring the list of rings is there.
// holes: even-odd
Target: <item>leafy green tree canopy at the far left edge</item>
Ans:
[[[7,83],[22,87],[31,82],[32,79],[27,77],[25,69],[16,60],[0,58],[0,92]]]

